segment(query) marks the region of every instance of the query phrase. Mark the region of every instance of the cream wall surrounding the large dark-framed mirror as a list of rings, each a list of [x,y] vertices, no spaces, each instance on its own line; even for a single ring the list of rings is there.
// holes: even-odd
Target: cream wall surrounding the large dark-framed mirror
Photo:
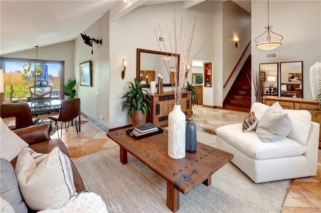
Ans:
[[[179,22],[183,16],[187,34],[189,34],[195,15],[197,15],[190,53],[190,57],[193,57],[206,38],[213,34],[214,29],[211,26],[213,5],[212,1],[201,3],[190,9],[184,9],[183,2],[147,5],[136,8],[116,21],[110,20],[110,79],[112,80],[110,80],[109,88],[112,89],[112,92],[109,96],[109,128],[131,124],[131,118],[127,116],[127,112],[121,111],[122,100],[119,98],[127,91],[126,81],[133,82],[133,78],[136,76],[136,48],[159,50],[154,31],[155,27],[158,28],[158,22],[163,36],[167,37],[169,41],[169,30],[173,33],[172,23],[174,6],[176,6],[177,21]],[[167,45],[167,48],[170,49],[169,42]],[[197,58],[213,60],[213,46],[212,36]],[[123,59],[127,60],[127,68],[125,78],[122,80],[120,73]],[[171,87],[167,89],[171,89]]]

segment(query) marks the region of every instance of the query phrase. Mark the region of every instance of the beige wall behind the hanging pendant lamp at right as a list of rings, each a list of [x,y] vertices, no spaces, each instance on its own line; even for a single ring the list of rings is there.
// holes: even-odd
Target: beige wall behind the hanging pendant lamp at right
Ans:
[[[303,97],[311,99],[309,67],[321,59],[321,1],[270,1],[270,25],[274,32],[284,37],[282,45],[272,50],[261,50],[254,42],[267,25],[267,2],[252,0],[251,7],[252,70],[258,70],[259,63],[302,60]],[[265,53],[269,52],[277,52],[278,57],[265,59]]]

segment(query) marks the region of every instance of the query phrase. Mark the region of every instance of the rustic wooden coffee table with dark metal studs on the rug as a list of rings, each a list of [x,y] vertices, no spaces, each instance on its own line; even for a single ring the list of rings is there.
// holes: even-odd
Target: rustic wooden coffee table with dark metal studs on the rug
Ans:
[[[132,127],[130,127],[132,128]],[[127,151],[167,181],[167,206],[173,211],[180,209],[180,191],[187,194],[200,183],[211,184],[211,175],[233,159],[234,155],[197,142],[194,153],[186,152],[182,159],[168,155],[168,130],[143,139],[135,140],[121,129],[107,133],[120,145],[120,162],[127,163]]]

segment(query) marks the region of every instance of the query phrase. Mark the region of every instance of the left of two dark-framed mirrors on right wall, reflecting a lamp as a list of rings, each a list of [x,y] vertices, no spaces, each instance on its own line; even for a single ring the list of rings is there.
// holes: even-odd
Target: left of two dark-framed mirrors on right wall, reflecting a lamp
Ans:
[[[260,76],[264,84],[263,95],[278,96],[278,63],[260,63]]]

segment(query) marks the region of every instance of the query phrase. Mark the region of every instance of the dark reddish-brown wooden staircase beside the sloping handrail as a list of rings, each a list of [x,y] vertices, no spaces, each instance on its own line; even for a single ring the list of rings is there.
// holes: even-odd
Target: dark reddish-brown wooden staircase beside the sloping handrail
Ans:
[[[247,57],[230,91],[223,108],[249,112],[251,109],[251,55]]]

